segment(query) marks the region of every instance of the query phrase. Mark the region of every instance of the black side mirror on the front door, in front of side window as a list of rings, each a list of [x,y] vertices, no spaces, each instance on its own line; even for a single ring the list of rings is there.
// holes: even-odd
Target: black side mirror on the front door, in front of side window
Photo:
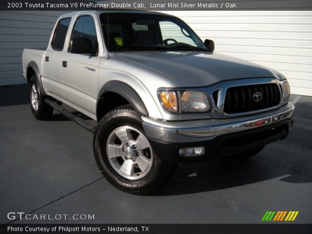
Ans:
[[[86,37],[72,38],[69,44],[69,52],[73,54],[95,54],[91,40]]]

